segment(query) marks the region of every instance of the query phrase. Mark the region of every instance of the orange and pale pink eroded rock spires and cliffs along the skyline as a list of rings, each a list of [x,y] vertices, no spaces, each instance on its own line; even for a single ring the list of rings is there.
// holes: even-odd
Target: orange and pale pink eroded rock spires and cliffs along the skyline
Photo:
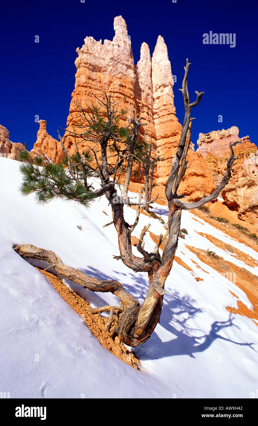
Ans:
[[[146,134],[153,138],[158,147],[157,155],[163,158],[157,163],[155,178],[162,188],[159,193],[164,193],[163,185],[167,182],[181,133],[181,124],[176,118],[173,74],[167,46],[159,36],[151,58],[147,43],[142,43],[140,60],[135,65],[127,26],[121,16],[115,17],[114,30],[112,41],[104,40],[102,43],[102,40],[86,37],[82,48],[76,49],[77,72],[64,135],[65,147],[70,153],[75,152],[71,132],[79,117],[76,104],[82,107],[91,102],[96,104],[94,95],[102,96],[103,91],[112,93],[115,101],[121,101],[119,107],[128,108],[128,119],[132,117],[134,107],[137,116],[144,117],[147,122]],[[179,193],[185,193],[196,201],[204,193],[209,194],[214,190],[222,179],[230,155],[229,144],[239,139],[238,132],[238,128],[233,126],[227,130],[200,133],[197,152],[194,152],[193,146],[189,150],[187,159],[190,168],[181,182]],[[251,144],[248,136],[241,138],[241,141],[243,143],[234,149],[239,158],[233,165],[232,179],[222,195],[229,208],[238,210],[239,218],[253,222],[256,217],[256,213],[253,216],[256,208],[256,172],[249,172],[250,167],[245,166],[245,160],[256,153],[257,148]],[[79,150],[84,147],[85,143],[79,144]],[[64,156],[60,143],[48,135],[44,120],[40,121],[34,149],[44,151],[54,162],[61,161]],[[136,179],[132,178],[132,181],[136,182]]]

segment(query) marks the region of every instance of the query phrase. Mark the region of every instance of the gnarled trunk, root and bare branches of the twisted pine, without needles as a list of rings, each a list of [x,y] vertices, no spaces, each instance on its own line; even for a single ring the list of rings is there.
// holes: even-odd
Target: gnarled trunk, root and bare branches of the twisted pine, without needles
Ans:
[[[131,234],[133,230],[135,229],[136,225],[138,224],[140,207],[144,207],[144,204],[141,204],[142,194],[140,193],[139,203],[131,203],[136,205],[136,220],[133,223],[133,225],[129,225],[124,218],[124,213],[123,213],[124,204],[123,202],[120,201],[120,198],[115,189],[115,184],[118,182],[118,181],[115,181],[116,174],[119,167],[121,167],[121,170],[122,170],[123,152],[125,151],[122,152],[118,148],[118,145],[117,145],[118,132],[112,133],[111,131],[112,127],[114,126],[114,123],[113,123],[114,106],[112,109],[110,96],[109,97],[106,96],[107,103],[103,104],[106,107],[106,115],[107,115],[106,127],[105,127],[105,123],[103,125],[103,121],[102,121],[102,127],[100,127],[100,130],[98,126],[95,126],[96,124],[95,113],[92,115],[93,118],[91,118],[94,124],[94,130],[95,132],[97,132],[97,136],[99,138],[100,152],[102,157],[102,161],[100,165],[98,162],[96,153],[94,153],[96,163],[97,163],[97,168],[98,168],[100,179],[101,179],[101,189],[98,191],[95,191],[94,195],[100,196],[105,194],[106,198],[111,204],[113,224],[116,228],[116,232],[118,235],[118,246],[119,246],[119,252],[120,252],[120,256],[115,256],[115,258],[121,259],[122,262],[128,268],[132,269],[135,272],[144,271],[148,273],[150,286],[147,291],[145,300],[142,303],[142,306],[139,305],[139,302],[132,295],[128,294],[128,292],[125,291],[121,283],[117,281],[113,281],[113,280],[100,281],[92,276],[88,276],[85,273],[82,273],[82,271],[79,271],[75,268],[64,265],[61,259],[51,250],[44,250],[30,244],[23,244],[14,248],[14,250],[18,254],[20,254],[20,256],[24,258],[28,257],[28,258],[39,259],[39,260],[49,262],[53,266],[57,274],[65,278],[71,279],[72,281],[76,282],[79,285],[82,285],[88,290],[111,292],[115,294],[120,299],[120,306],[115,306],[115,307],[106,306],[104,308],[103,307],[94,308],[94,312],[109,310],[110,319],[112,319],[113,311],[117,312],[119,316],[118,325],[117,325],[118,336],[122,342],[130,346],[137,346],[146,342],[150,338],[151,333],[153,332],[157,322],[159,321],[159,318],[162,312],[164,284],[171,271],[171,268],[173,265],[173,259],[174,259],[177,244],[178,244],[182,210],[183,209],[189,210],[189,209],[199,207],[205,204],[206,202],[216,198],[219,192],[225,187],[225,185],[229,181],[231,176],[232,164],[235,158],[237,158],[234,156],[233,149],[232,149],[232,146],[238,143],[238,142],[235,142],[234,144],[230,145],[231,156],[227,162],[227,171],[224,174],[224,177],[221,183],[219,184],[218,188],[216,188],[216,190],[210,196],[203,197],[200,201],[196,203],[186,204],[180,200],[181,198],[184,197],[184,194],[178,195],[177,191],[179,189],[179,184],[187,169],[186,158],[187,158],[188,149],[190,147],[190,128],[191,128],[191,120],[192,120],[192,118],[190,117],[191,109],[200,103],[201,97],[203,95],[203,92],[201,93],[196,92],[197,94],[196,101],[193,103],[190,103],[188,89],[187,89],[187,76],[188,76],[189,65],[190,64],[187,59],[187,64],[185,67],[185,75],[184,75],[184,80],[183,80],[182,89],[181,89],[181,92],[184,98],[184,108],[185,108],[184,123],[183,123],[182,131],[181,131],[179,146],[173,158],[170,176],[167,180],[167,185],[165,189],[165,194],[168,201],[169,216],[168,216],[168,238],[167,238],[167,243],[164,247],[162,256],[159,253],[159,247],[162,241],[164,240],[163,235],[159,236],[158,242],[151,253],[148,253],[144,249],[143,238],[150,225],[145,226],[142,229],[139,242],[137,243],[137,250],[139,251],[139,253],[142,254],[142,257],[134,256],[132,253]],[[83,112],[83,114],[85,118],[86,113]],[[86,120],[88,122],[88,126],[90,127],[91,121],[87,118]],[[133,118],[132,145],[130,146],[130,149],[129,149],[126,182],[125,182],[122,200],[124,199],[125,196],[127,196],[128,184],[129,184],[130,176],[132,173],[131,158],[134,153],[134,147],[135,147],[135,143],[136,143],[136,139],[138,135],[138,129],[140,126],[142,126],[142,124],[139,124],[139,121]],[[90,134],[90,132],[87,130],[87,133],[83,133],[81,130],[81,133],[75,136],[82,137],[85,134],[88,135]],[[92,136],[92,138],[94,139],[94,141],[96,140],[95,133],[94,133],[94,136]],[[117,161],[116,161],[115,167],[112,166],[113,168],[108,163],[108,155],[107,155],[107,147],[110,140],[113,141],[112,142],[113,150],[117,152]],[[60,141],[62,142],[61,137],[60,137]],[[75,138],[75,144],[76,144],[76,138]],[[71,174],[71,179],[73,179],[74,172],[71,167],[71,160],[67,151],[66,151],[66,154],[68,155],[68,165],[69,165],[69,170]],[[111,181],[111,175],[113,176],[113,181]]]

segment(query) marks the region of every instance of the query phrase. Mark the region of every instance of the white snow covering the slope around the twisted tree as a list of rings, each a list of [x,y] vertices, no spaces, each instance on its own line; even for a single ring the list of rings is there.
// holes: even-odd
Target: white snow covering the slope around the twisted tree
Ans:
[[[197,232],[213,235],[254,259],[257,252],[184,211],[181,227],[188,235],[179,239],[176,256],[203,281],[197,282],[174,262],[165,284],[160,323],[147,343],[134,348],[142,365],[142,372],[137,371],[100,345],[30,264],[36,261],[26,262],[12,249],[30,243],[53,250],[66,265],[120,281],[142,303],[147,274],[136,274],[113,259],[119,250],[113,225],[103,228],[112,220],[107,200],[101,197],[89,210],[62,200],[38,206],[33,195],[24,198],[19,193],[19,166],[18,161],[0,158],[0,391],[10,392],[11,398],[248,398],[257,389],[257,326],[225,309],[237,308],[230,291],[248,308],[252,305],[240,288],[200,262],[186,244],[214,250],[256,276],[257,267],[247,266]],[[167,207],[154,207],[166,222]],[[125,206],[125,219],[133,223],[135,210]],[[133,235],[139,237],[147,223],[154,234],[164,234],[157,219],[140,215]],[[147,234],[145,248],[153,246]],[[68,281],[67,285],[92,306],[118,303],[112,294],[92,293]]]

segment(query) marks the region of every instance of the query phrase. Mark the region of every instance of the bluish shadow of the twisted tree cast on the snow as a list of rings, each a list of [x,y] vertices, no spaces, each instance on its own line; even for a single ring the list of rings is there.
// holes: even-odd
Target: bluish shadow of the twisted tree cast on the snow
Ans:
[[[33,266],[43,267],[43,264],[44,266],[48,265],[47,262],[39,262],[35,261],[35,259],[26,260]],[[138,300],[145,299],[147,290],[149,288],[149,282],[147,279],[141,275],[137,276],[137,274],[130,272],[121,273],[120,271],[113,271],[114,276],[112,276],[99,271],[93,266],[88,266],[88,268],[82,268],[80,270],[87,275],[94,276],[100,280],[117,279],[117,274],[125,276],[125,280],[127,282],[131,282],[130,285],[122,283],[125,287],[125,290],[130,292],[130,294],[132,294]],[[51,268],[50,271],[55,273],[53,268]],[[81,285],[69,279],[64,279],[64,281],[68,284],[71,290],[73,290],[91,305],[106,305],[107,301],[104,300],[98,293],[86,290]],[[116,296],[110,293],[105,293],[105,297],[107,297],[107,295],[110,295],[111,297],[111,304],[113,303],[112,298],[113,300],[117,299],[115,304],[119,304],[119,299]],[[196,317],[198,314],[202,314],[203,312],[204,309],[199,308],[197,306],[197,301],[191,298],[189,295],[181,295],[179,291],[171,291],[168,289],[163,300],[160,325],[165,330],[167,330],[171,336],[174,336],[174,338],[167,342],[163,342],[157,331],[153,331],[150,340],[148,340],[144,345],[134,348],[136,355],[142,360],[153,360],[164,357],[173,357],[176,355],[188,355],[189,357],[195,358],[195,353],[205,351],[216,339],[225,340],[227,342],[234,343],[235,345],[249,346],[252,348],[254,343],[235,342],[218,334],[219,331],[221,331],[223,328],[237,327],[237,325],[233,323],[234,319],[232,318],[231,313],[229,314],[229,319],[227,321],[214,321],[210,325],[210,331],[207,334],[203,333],[199,328],[195,328],[196,325],[194,324],[194,317]],[[252,349],[255,350],[254,348]]]

